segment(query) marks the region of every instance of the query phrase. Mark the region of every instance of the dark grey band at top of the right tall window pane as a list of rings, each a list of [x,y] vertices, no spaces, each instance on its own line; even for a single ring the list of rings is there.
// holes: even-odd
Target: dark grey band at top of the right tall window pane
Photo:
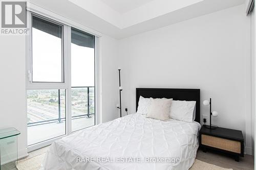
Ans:
[[[94,48],[94,35],[72,28],[71,37],[71,43],[79,46]]]

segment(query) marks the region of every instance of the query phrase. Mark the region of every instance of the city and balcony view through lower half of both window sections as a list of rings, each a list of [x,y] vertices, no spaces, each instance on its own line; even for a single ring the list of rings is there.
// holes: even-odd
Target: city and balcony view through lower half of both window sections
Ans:
[[[71,96],[72,131],[95,125],[94,87],[72,88]],[[28,145],[66,134],[65,89],[28,90],[27,112]]]

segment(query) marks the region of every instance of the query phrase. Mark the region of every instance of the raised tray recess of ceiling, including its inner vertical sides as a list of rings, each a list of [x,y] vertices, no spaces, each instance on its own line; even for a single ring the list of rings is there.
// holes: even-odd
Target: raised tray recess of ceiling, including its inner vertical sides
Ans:
[[[69,0],[75,5],[104,19],[119,29],[199,4],[218,4],[218,0]],[[222,0],[222,6],[242,4],[244,0]],[[215,5],[216,6],[216,5]],[[213,6],[214,7],[214,6]],[[198,10],[198,9],[197,9]],[[200,9],[199,9],[200,10]],[[201,9],[205,10],[204,8]],[[197,11],[195,11],[197,12]],[[186,12],[184,12],[186,14]],[[183,14],[183,15],[184,15]]]

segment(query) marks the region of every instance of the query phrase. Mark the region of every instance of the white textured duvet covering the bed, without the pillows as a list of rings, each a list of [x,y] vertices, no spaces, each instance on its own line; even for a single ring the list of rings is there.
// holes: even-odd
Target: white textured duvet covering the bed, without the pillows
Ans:
[[[130,114],[55,141],[43,169],[188,169],[196,158],[199,129],[197,122]]]

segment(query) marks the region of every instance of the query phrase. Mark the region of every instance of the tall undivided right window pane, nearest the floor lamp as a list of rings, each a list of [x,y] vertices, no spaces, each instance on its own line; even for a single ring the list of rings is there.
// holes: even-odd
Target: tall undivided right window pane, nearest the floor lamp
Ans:
[[[94,41],[71,29],[72,132],[95,125]]]

